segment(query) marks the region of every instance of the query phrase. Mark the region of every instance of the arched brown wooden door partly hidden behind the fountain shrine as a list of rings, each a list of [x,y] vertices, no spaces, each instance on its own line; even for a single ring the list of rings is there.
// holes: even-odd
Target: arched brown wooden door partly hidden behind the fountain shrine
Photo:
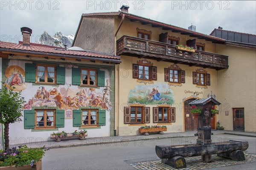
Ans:
[[[191,98],[184,102],[184,118],[185,118],[185,130],[197,130],[198,127],[198,118],[193,117],[193,114],[190,113],[192,107],[189,106],[189,103],[194,101],[195,98]]]

